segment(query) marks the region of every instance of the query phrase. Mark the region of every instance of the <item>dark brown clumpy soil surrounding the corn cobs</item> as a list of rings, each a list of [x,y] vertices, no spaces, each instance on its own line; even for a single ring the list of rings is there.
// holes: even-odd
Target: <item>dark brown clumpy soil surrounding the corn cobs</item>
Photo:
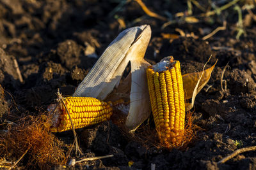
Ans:
[[[165,17],[166,14],[174,17],[175,13],[188,10],[186,1],[144,2],[150,10]],[[205,9],[211,8],[208,1],[198,2]],[[79,129],[80,145],[87,157],[109,154],[114,157],[79,163],[75,168],[150,169],[156,165],[156,169],[256,169],[256,152],[241,153],[225,164],[217,164],[239,148],[256,145],[255,18],[253,20],[248,10],[242,11],[246,36],[243,34],[236,39],[238,16],[233,6],[222,11],[221,15],[198,17],[200,22],[196,24],[179,20],[161,29],[164,22],[145,15],[138,3],[122,3],[99,0],[0,1],[2,122],[10,113],[36,115],[38,108],[46,110],[55,101],[59,88],[63,95],[72,95],[106,46],[124,30],[118,22],[122,19],[127,27],[151,26],[152,38],[145,58],[152,64],[173,55],[180,60],[182,74],[185,74],[201,71],[211,55],[209,66],[218,59],[209,83],[195,101],[193,123],[201,130],[184,150],[167,151],[132,140],[111,121]],[[218,1],[213,3],[223,5]],[[255,5],[255,1],[238,4],[241,7]],[[256,13],[255,8],[250,11]],[[193,5],[193,14],[199,16],[200,13],[202,11]],[[136,20],[139,17],[141,20]],[[202,39],[221,26],[223,20],[227,20],[227,29],[207,40]],[[186,34],[193,32],[195,36],[179,36],[176,28]],[[176,38],[166,39],[161,33],[176,34]],[[221,74],[227,64],[221,89]],[[17,70],[20,70],[23,81]],[[154,125],[150,128],[156,133]],[[72,144],[71,131],[56,136],[64,143]],[[129,161],[134,164],[129,166]],[[19,164],[24,166],[22,161]]]

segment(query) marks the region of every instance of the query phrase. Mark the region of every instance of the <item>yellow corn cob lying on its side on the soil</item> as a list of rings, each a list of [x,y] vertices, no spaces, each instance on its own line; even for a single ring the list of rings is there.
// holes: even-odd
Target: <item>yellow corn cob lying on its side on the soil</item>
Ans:
[[[104,122],[113,113],[111,102],[106,103],[93,97],[63,97],[63,102],[70,114],[74,129]],[[63,132],[72,129],[65,106],[60,103],[54,111],[51,124],[52,132]],[[52,110],[53,108],[54,106],[51,106],[48,109]]]

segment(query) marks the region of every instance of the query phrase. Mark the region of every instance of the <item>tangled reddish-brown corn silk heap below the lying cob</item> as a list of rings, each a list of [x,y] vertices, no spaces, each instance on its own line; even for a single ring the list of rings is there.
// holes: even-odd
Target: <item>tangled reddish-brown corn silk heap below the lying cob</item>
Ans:
[[[65,164],[67,157],[60,140],[44,124],[47,122],[40,117],[28,116],[10,125],[0,133],[0,157],[15,161],[12,167],[24,157],[26,167],[48,169]]]

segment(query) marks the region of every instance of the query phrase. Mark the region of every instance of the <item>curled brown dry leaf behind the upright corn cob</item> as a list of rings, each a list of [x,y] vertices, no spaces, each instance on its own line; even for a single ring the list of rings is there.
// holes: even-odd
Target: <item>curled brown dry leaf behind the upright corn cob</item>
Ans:
[[[209,58],[209,60],[210,59],[211,57]],[[209,60],[205,63],[204,68],[206,64],[209,62]],[[185,100],[192,98],[191,103],[186,103],[186,111],[191,110],[191,108],[193,108],[196,95],[198,94],[198,92],[200,92],[200,90],[203,89],[203,87],[210,80],[211,73],[217,61],[214,63],[213,66],[209,67],[209,69],[203,68],[203,71],[182,75]]]

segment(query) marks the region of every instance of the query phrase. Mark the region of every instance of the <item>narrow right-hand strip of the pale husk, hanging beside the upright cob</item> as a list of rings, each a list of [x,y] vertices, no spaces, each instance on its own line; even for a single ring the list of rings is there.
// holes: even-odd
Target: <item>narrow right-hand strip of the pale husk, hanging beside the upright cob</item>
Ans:
[[[150,27],[146,27],[143,34],[133,43],[127,56],[131,59],[131,94],[130,109],[125,125],[135,130],[146,120],[151,112],[147,85],[146,70],[150,64],[144,60],[144,55],[151,37]],[[134,57],[136,56],[136,57]]]

